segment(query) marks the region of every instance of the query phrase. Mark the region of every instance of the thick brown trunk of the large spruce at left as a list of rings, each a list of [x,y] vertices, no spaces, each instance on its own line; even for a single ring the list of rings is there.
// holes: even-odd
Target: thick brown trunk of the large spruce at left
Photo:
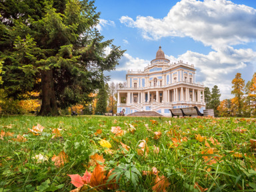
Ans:
[[[55,91],[53,86],[53,70],[42,72],[42,106],[39,116],[59,116]]]

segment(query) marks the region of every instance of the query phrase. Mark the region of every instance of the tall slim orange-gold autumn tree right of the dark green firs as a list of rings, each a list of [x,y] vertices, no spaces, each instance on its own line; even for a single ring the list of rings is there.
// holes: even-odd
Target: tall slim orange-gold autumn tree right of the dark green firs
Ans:
[[[234,94],[237,98],[237,116],[242,116],[243,110],[243,90],[245,88],[245,80],[241,78],[241,73],[237,72],[235,78],[232,80],[232,88],[231,94]]]

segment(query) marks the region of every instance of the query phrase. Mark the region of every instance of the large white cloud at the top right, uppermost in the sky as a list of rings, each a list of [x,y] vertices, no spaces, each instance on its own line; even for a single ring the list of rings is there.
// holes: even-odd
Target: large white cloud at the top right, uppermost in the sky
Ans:
[[[143,38],[191,37],[204,45],[219,47],[254,41],[256,10],[226,0],[181,0],[163,19],[123,16],[127,27],[141,30]]]

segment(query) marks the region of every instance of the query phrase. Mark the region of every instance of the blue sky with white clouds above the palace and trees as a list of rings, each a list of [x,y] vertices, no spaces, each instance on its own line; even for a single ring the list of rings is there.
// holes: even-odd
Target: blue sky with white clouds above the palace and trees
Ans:
[[[241,72],[245,83],[256,70],[254,0],[96,0],[105,39],[126,49],[113,72],[125,81],[128,69],[143,70],[161,45],[171,62],[195,64],[196,81],[231,98],[231,81]],[[106,50],[106,53],[109,49]]]

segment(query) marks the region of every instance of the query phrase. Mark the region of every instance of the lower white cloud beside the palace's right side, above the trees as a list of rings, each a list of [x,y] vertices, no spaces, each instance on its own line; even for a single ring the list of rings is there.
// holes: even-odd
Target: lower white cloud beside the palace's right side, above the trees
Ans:
[[[235,49],[233,47],[219,48],[209,54],[200,54],[188,50],[180,55],[178,60],[188,60],[195,64],[196,79],[205,86],[219,87],[223,98],[231,98],[231,80],[235,73],[241,69],[253,70],[249,63],[255,62],[256,52],[248,49]]]

